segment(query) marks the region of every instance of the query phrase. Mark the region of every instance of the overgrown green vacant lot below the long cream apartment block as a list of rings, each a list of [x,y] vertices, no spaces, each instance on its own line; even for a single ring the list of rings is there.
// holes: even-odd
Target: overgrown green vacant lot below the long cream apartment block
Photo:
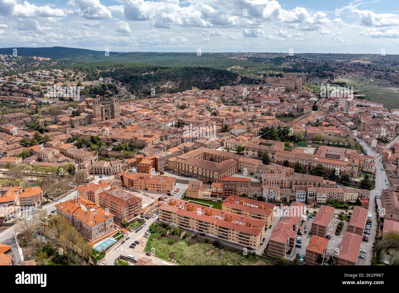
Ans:
[[[170,245],[168,238],[163,237],[151,240],[151,244],[156,257],[180,265],[273,265],[270,260],[259,256],[251,254],[245,256],[229,248],[217,249],[210,243],[198,242],[189,245],[185,239],[182,239]],[[147,250],[150,247],[146,246],[146,251],[151,251]]]

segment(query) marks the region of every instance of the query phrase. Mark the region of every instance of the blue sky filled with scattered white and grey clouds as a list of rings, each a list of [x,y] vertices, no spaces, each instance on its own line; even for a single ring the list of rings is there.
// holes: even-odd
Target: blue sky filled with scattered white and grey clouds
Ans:
[[[0,47],[399,54],[397,0],[0,0]]]

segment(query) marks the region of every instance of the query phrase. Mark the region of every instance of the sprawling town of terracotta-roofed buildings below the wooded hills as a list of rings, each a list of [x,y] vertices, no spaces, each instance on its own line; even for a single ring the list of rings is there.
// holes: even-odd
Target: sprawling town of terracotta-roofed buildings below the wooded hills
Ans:
[[[0,78],[1,265],[398,263],[399,109],[306,76],[79,75]]]

